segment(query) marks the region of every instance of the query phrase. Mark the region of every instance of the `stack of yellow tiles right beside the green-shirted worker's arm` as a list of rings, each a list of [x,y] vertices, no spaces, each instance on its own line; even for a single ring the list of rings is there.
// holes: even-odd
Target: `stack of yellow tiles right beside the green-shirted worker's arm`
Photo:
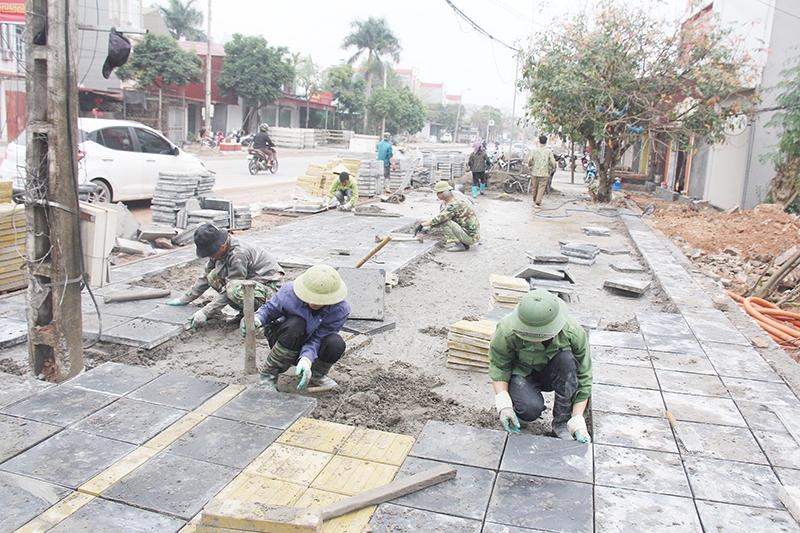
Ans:
[[[497,322],[460,320],[447,335],[447,368],[486,372],[489,368],[489,342]]]

